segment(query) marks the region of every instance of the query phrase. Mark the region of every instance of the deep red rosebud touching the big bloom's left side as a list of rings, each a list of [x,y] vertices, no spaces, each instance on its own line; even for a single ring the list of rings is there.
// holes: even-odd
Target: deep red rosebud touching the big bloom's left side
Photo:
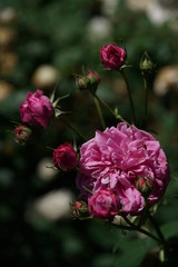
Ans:
[[[71,170],[77,166],[78,157],[72,146],[68,142],[60,145],[53,151],[55,167],[62,170]]]

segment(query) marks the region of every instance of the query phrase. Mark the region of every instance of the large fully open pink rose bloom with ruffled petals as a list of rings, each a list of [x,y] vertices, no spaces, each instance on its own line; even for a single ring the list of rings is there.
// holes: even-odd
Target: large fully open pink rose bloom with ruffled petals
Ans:
[[[97,131],[81,146],[80,156],[80,197],[88,199],[89,191],[109,187],[117,192],[125,214],[139,214],[145,201],[147,207],[158,202],[169,182],[169,167],[159,141],[132,125],[121,122],[117,128]],[[137,187],[140,177],[150,181],[147,197]]]

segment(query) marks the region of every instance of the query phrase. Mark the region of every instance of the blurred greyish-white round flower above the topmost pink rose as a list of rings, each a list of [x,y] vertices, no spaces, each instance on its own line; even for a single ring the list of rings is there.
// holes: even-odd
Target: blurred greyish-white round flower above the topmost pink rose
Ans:
[[[111,34],[111,22],[101,16],[93,17],[87,27],[88,39],[92,42]]]

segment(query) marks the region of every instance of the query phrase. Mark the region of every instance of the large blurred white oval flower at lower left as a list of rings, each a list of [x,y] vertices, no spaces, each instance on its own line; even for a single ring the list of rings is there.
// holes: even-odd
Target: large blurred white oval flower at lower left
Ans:
[[[49,220],[69,218],[71,216],[70,204],[73,195],[68,189],[53,190],[34,200],[28,217],[40,215]]]

